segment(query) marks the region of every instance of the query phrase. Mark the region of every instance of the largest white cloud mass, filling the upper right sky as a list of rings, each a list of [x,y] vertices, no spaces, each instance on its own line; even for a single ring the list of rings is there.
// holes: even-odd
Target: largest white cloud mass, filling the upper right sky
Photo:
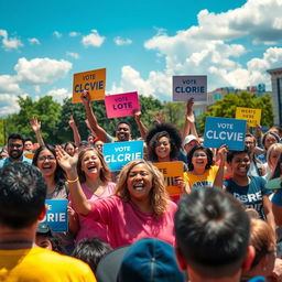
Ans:
[[[142,78],[138,70],[124,66],[121,82],[112,90],[130,86],[165,98],[171,96],[173,75],[207,75],[208,90],[223,86],[246,88],[259,83],[270,87],[267,69],[281,67],[282,48],[269,47],[258,55],[253,52],[257,47],[245,47],[238,42],[248,39],[253,44],[276,44],[282,40],[281,13],[282,0],[249,0],[241,8],[218,14],[203,10],[198,25],[173,36],[158,29],[144,47],[155,51],[156,59],[164,58],[163,73],[150,72],[148,78]],[[249,62],[242,63],[242,55],[248,55]]]

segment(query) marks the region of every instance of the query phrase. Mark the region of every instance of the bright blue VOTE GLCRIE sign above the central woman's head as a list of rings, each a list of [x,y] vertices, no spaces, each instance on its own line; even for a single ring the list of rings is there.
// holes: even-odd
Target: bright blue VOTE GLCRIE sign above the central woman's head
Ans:
[[[123,165],[143,159],[144,141],[105,143],[102,154],[111,171],[120,171]]]

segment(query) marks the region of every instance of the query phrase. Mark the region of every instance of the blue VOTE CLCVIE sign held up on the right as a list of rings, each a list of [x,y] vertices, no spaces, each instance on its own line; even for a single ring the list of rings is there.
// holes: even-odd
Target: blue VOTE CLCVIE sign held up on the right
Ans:
[[[247,121],[227,118],[206,118],[204,147],[242,151],[245,148]]]

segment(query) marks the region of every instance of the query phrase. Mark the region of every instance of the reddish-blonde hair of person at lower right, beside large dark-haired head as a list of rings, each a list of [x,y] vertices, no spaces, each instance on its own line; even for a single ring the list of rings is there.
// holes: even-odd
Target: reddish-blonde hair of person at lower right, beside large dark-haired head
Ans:
[[[271,226],[261,219],[251,218],[250,245],[256,249],[251,264],[253,268],[265,254],[275,251],[275,234]]]

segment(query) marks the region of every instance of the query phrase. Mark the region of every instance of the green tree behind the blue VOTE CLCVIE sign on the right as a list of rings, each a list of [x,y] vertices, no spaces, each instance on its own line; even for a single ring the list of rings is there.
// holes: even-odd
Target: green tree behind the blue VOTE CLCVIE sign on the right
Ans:
[[[254,94],[242,91],[238,95],[227,94],[223,99],[217,100],[214,106],[210,106],[199,118],[198,131],[204,132],[206,117],[235,118],[237,107],[261,109],[261,126],[271,127],[273,123],[274,115],[271,97],[268,95],[257,97]]]

